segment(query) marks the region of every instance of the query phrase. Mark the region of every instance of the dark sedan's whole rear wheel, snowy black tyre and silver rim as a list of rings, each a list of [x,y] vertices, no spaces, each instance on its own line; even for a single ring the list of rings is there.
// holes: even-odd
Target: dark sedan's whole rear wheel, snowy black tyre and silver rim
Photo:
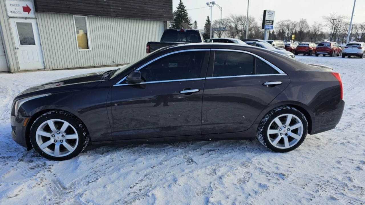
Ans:
[[[307,133],[308,122],[303,113],[290,106],[281,106],[261,120],[257,138],[272,151],[288,152],[299,147]]]

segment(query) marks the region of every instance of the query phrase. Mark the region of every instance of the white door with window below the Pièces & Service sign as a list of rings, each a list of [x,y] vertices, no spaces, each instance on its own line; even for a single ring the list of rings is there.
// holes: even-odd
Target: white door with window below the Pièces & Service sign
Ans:
[[[35,19],[10,18],[20,70],[44,68]]]

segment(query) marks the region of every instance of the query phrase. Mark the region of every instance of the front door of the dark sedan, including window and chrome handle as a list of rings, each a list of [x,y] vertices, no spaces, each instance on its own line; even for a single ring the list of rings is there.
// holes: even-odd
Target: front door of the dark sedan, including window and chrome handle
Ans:
[[[108,103],[114,140],[200,135],[201,103],[210,49],[175,51],[137,68],[142,83],[126,79]]]

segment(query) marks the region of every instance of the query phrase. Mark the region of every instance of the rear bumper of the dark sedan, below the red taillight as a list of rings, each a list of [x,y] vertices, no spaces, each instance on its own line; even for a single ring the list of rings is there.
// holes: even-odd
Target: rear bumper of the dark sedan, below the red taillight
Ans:
[[[340,100],[334,111],[312,118],[312,130],[309,134],[318,134],[334,129],[341,120],[345,101]]]

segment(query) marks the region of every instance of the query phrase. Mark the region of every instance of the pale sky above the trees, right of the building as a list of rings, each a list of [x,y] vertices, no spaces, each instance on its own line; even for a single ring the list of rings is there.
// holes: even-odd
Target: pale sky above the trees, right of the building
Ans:
[[[212,1],[212,0],[210,0]],[[208,0],[183,0],[187,9],[206,7]],[[173,0],[173,10],[179,0]],[[222,18],[233,14],[247,14],[247,0],[216,0],[216,4],[222,7]],[[250,0],[249,15],[256,18],[257,21],[262,17],[264,10],[275,11],[275,22],[284,19],[297,21],[301,18],[307,19],[311,25],[314,21],[323,22],[322,16],[329,15],[331,12],[347,15],[351,17],[354,0]],[[203,29],[205,19],[210,17],[209,8],[188,10],[193,21],[197,21],[198,28]],[[365,22],[365,0],[357,0],[354,12],[354,23]],[[213,7],[213,20],[220,19],[220,10]],[[350,19],[349,19],[350,21]],[[261,22],[259,22],[261,24]]]

